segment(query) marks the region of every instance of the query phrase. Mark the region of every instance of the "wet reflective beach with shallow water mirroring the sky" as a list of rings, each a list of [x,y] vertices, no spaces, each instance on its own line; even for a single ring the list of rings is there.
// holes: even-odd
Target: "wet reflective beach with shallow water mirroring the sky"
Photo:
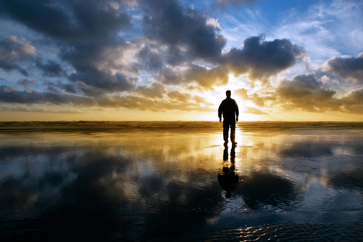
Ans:
[[[2,240],[363,241],[363,130],[0,134]]]

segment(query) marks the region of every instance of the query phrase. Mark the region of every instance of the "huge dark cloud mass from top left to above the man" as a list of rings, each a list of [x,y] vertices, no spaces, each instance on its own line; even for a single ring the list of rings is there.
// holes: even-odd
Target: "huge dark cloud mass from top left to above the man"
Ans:
[[[68,78],[57,84],[48,82],[48,89],[89,97],[135,90],[156,94],[151,86],[136,88],[140,76],[148,72],[163,85],[198,91],[227,85],[230,73],[248,74],[266,84],[270,76],[294,65],[305,53],[289,40],[264,41],[263,36],[247,38],[242,49],[223,53],[227,39],[220,34],[218,20],[206,12],[174,0],[135,3],[143,16],[139,24],[144,36],[132,41],[121,34],[131,26],[130,3],[15,0],[1,5],[3,17],[56,43],[58,57],[72,67],[66,74],[60,63],[36,58],[35,66],[44,77]]]

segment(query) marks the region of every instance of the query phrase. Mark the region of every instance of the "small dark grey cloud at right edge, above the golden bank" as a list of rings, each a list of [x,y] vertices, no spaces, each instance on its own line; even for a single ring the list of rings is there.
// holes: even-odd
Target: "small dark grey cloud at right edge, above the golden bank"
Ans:
[[[363,83],[363,52],[358,57],[335,57],[327,60],[322,69],[347,81]]]

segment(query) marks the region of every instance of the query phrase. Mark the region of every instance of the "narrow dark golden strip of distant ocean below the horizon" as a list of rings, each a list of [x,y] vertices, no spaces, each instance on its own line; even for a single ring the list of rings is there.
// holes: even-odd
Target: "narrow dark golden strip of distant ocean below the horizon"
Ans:
[[[0,132],[78,131],[117,132],[136,130],[220,130],[218,121],[58,121],[58,122],[0,122]],[[363,129],[363,122],[280,122],[239,121],[239,130],[317,130]]]

